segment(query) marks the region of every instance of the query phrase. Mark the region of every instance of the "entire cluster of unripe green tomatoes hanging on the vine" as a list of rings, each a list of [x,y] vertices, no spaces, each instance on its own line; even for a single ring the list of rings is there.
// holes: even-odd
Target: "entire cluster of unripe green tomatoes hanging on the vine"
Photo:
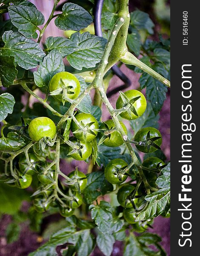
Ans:
[[[63,102],[63,104],[66,101],[71,102],[80,94],[80,82],[73,74],[60,72],[51,79],[49,91],[56,100]],[[145,110],[146,99],[143,93],[138,90],[128,90],[125,93],[120,92],[120,96],[116,102],[116,113],[123,119],[137,119],[143,115]],[[54,145],[56,136],[60,136],[61,140],[67,144],[65,145],[66,155],[75,160],[86,161],[91,157],[94,143],[99,143],[99,145],[103,143],[108,147],[119,147],[125,142],[125,138],[116,129],[116,122],[112,119],[99,123],[92,114],[81,112],[71,116],[71,119],[69,129],[73,136],[68,141],[64,140],[62,135],[59,134],[60,131],[57,131],[54,122],[48,117],[37,117],[29,123],[29,137],[34,142],[39,142],[39,145],[41,145],[41,141],[43,143],[47,143],[48,141],[48,145]],[[120,125],[127,137],[126,125],[123,122],[120,122]],[[151,153],[160,148],[162,137],[156,128],[146,127],[140,129],[135,134],[134,141],[131,141],[131,143],[135,144],[136,148],[141,152]],[[159,169],[164,164],[162,160],[156,157],[150,157],[143,162],[143,166],[147,169]],[[74,209],[79,207],[83,202],[81,192],[86,187],[87,177],[77,169],[71,172],[68,175],[69,179],[65,181],[68,186],[63,186],[60,183],[67,198],[71,198],[71,200],[67,201],[66,204],[60,204],[57,201],[48,201],[47,198],[52,195],[55,189],[55,168],[54,166],[49,168],[48,165],[49,163],[45,165],[41,163],[40,159],[33,152],[29,153],[29,161],[27,161],[27,155],[21,155],[19,160],[20,177],[15,182],[15,185],[20,188],[27,188],[31,185],[32,176],[37,175],[41,188],[43,186],[49,186],[49,189],[46,189],[42,195],[34,200],[35,209],[43,212],[50,206],[56,206],[59,207],[61,215],[64,217],[71,216],[74,213]],[[104,174],[109,183],[116,185],[120,185],[131,176],[129,173],[129,164],[120,158],[111,160],[105,167]],[[156,172],[152,173],[144,170],[144,174],[149,184],[156,187]],[[135,186],[131,183],[123,184],[117,193],[117,200],[124,207],[124,218],[131,224],[135,224],[134,219],[137,215],[135,209],[137,208],[139,198],[138,191],[135,189]],[[144,227],[141,229],[141,225],[137,227],[137,230],[141,231],[143,229]]]

